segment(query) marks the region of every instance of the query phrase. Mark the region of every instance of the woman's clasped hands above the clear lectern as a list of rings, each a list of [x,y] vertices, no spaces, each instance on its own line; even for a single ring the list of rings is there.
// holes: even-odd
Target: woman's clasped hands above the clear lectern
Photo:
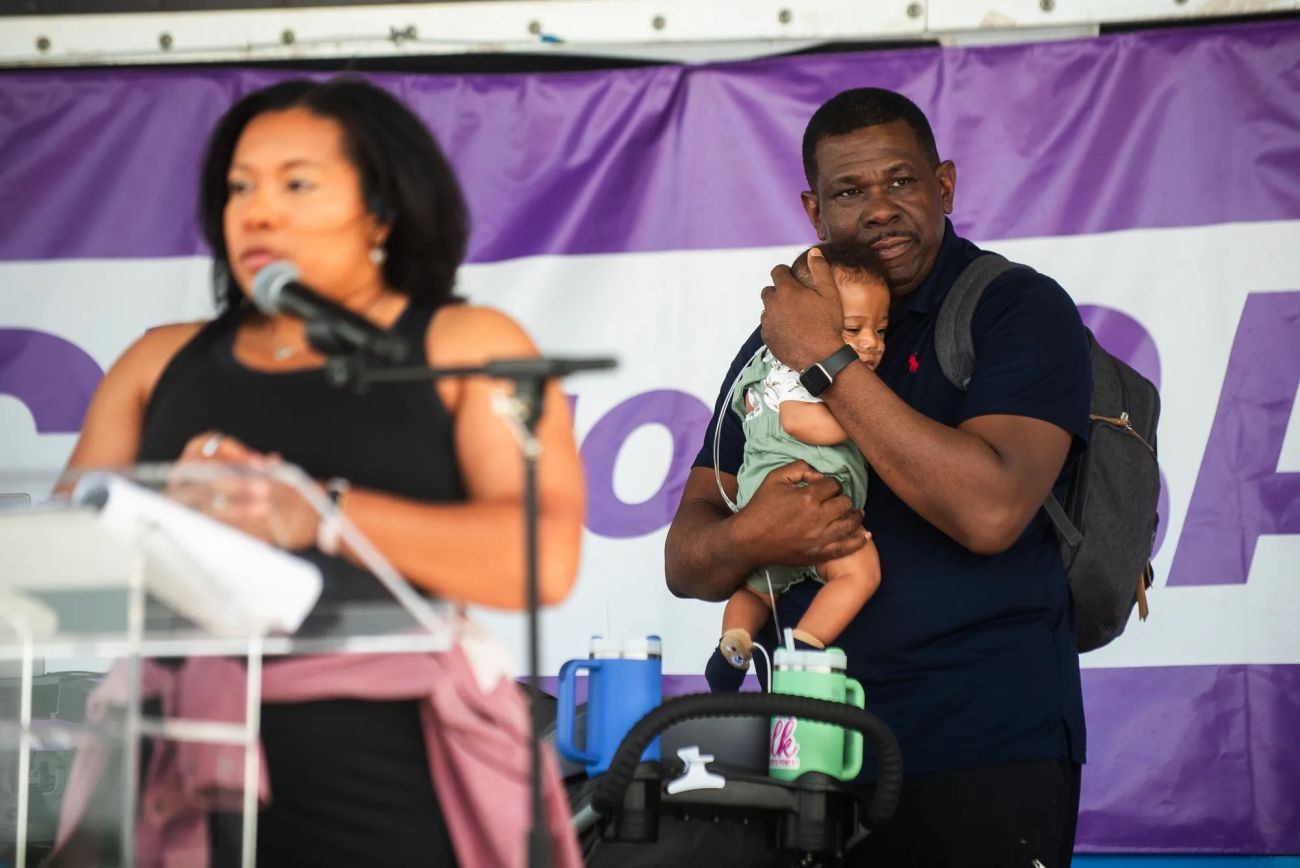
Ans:
[[[183,469],[203,464],[213,465],[211,477]],[[316,542],[320,516],[296,490],[268,476],[282,464],[278,452],[257,452],[229,434],[204,431],[185,444],[177,460],[182,469],[166,494],[251,537],[291,551],[307,548]]]

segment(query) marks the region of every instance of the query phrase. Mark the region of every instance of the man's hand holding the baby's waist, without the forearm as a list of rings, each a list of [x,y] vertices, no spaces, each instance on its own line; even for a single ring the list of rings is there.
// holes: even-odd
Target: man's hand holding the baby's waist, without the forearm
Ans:
[[[767,474],[736,515],[758,563],[807,567],[844,557],[867,544],[862,511],[840,483],[794,461]]]

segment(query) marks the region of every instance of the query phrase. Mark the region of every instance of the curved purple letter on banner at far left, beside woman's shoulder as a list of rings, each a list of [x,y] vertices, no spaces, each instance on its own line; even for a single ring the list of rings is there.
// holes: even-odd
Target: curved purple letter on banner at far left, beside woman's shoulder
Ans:
[[[100,366],[74,343],[44,331],[0,329],[0,394],[13,395],[36,420],[39,434],[75,434]]]

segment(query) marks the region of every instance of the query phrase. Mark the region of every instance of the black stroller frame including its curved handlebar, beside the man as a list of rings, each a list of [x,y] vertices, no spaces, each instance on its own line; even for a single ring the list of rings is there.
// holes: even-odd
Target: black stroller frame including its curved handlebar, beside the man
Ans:
[[[724,785],[670,793],[668,781],[685,771],[676,756],[638,761],[650,742],[684,721],[722,717],[763,719],[750,726],[750,739],[766,732],[767,719],[790,716],[855,730],[875,747],[876,785],[853,787],[827,774],[806,772],[794,781],[767,776],[766,768],[714,764]],[[714,729],[703,738],[716,739]],[[680,730],[679,730],[680,733]],[[697,733],[686,733],[690,738]],[[764,738],[766,752],[766,738]],[[722,745],[699,745],[723,752]],[[664,700],[645,715],[624,737],[607,773],[571,789],[573,825],[589,865],[754,864],[741,856],[734,841],[758,847],[770,865],[838,865],[849,847],[888,821],[902,789],[902,755],[889,728],[875,715],[841,703],[789,694],[690,694]],[[694,843],[680,852],[662,852],[666,841],[688,829]],[[667,833],[667,836],[662,836]],[[729,836],[729,838],[728,838]],[[710,854],[710,838],[719,839]],[[725,841],[724,841],[725,839]],[[755,843],[757,842],[757,843]],[[701,846],[701,845],[705,846]],[[602,851],[610,851],[603,859]],[[723,855],[725,854],[725,855]]]

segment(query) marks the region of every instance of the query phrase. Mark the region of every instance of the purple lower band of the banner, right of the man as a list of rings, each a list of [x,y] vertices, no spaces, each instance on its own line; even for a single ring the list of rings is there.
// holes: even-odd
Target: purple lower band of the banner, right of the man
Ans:
[[[1084,669],[1088,852],[1300,854],[1300,665]]]

